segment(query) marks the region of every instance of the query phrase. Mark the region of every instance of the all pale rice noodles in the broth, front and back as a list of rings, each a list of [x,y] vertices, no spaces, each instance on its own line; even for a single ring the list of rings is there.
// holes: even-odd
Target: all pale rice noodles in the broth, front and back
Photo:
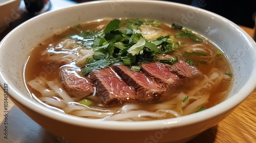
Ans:
[[[63,31],[60,31],[56,34],[60,34],[62,32]],[[143,25],[140,29],[134,29],[134,33],[141,33],[146,39],[156,39],[159,36],[166,36],[172,32],[165,32],[157,27]],[[176,39],[174,35],[170,35],[170,38],[174,40]],[[43,57],[45,58],[47,56],[62,54],[58,58],[67,59],[70,61],[70,64],[62,65],[60,68],[72,67],[76,71],[81,71],[80,67],[84,66],[87,59],[91,58],[95,54],[95,51],[87,49],[87,47],[84,46],[92,46],[93,39],[86,39],[91,41],[87,44],[79,44],[84,42],[84,40],[79,40],[65,38],[62,39],[61,42],[58,41],[57,44],[49,44],[47,50],[42,52],[41,55],[44,55]],[[205,53],[206,56],[201,55],[198,57],[192,57],[191,59],[196,59],[195,61],[199,62],[203,61],[202,63],[211,64],[213,67],[219,67],[220,63],[214,60],[217,52],[215,49],[211,49],[206,40],[204,40],[203,43],[194,42],[195,44],[189,44],[190,42],[187,44],[187,42],[184,43],[182,40],[178,41],[178,43],[180,45],[179,49],[175,49],[170,55],[169,53],[166,53],[167,57],[177,56],[179,59],[185,61],[190,58],[184,57],[186,52],[201,52]],[[57,78],[54,80],[46,80],[42,77],[36,77],[27,83],[33,89],[41,93],[42,97],[34,97],[38,98],[37,101],[60,112],[98,120],[147,121],[178,117],[194,113],[200,107],[208,103],[210,89],[215,90],[215,88],[218,88],[216,85],[220,84],[223,80],[230,79],[231,78],[228,75],[225,75],[220,69],[212,68],[210,71],[205,70],[202,79],[189,81],[193,83],[193,87],[190,87],[192,84],[190,85],[189,83],[184,86],[184,88],[186,88],[185,90],[177,89],[180,91],[179,93],[175,92],[168,95],[168,101],[152,105],[127,103],[121,107],[104,107],[101,105],[101,99],[98,98],[98,94],[96,94],[96,87],[94,95],[86,97],[87,100],[91,100],[93,102],[92,105],[87,106],[80,104],[81,102],[79,103],[81,99],[69,96],[69,94],[61,88],[61,83]],[[221,96],[224,92],[215,94],[217,94],[217,96]]]

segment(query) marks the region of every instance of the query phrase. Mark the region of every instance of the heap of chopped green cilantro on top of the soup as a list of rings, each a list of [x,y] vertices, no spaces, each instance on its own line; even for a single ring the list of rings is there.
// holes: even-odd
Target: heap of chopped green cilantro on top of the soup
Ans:
[[[113,63],[123,63],[131,70],[140,70],[144,61],[158,61],[174,64],[177,57],[157,59],[157,53],[165,54],[179,48],[179,43],[169,36],[161,36],[156,40],[147,40],[142,34],[134,32],[141,25],[158,27],[160,22],[154,20],[112,20],[103,31],[87,30],[69,37],[79,44],[88,45],[88,49],[95,51],[92,58],[87,59],[82,74],[86,75],[94,69],[109,67]],[[126,28],[119,30],[122,26]]]

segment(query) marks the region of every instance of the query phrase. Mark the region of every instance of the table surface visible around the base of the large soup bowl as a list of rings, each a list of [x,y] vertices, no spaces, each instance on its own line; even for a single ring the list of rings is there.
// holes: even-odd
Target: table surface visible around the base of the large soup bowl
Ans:
[[[253,36],[254,29],[242,26],[241,28]],[[8,139],[6,139],[4,91],[0,87],[0,113],[2,114],[0,115],[0,142],[63,142],[62,138],[56,138],[31,120],[10,99],[8,99],[8,111]],[[256,142],[255,116],[256,89],[218,125],[204,131],[189,142]]]

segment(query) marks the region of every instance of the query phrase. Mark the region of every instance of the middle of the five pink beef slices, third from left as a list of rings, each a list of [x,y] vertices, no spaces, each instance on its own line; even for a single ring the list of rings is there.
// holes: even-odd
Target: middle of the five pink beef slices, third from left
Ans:
[[[161,99],[164,89],[138,71],[132,71],[122,64],[111,66],[117,71],[121,78],[136,90],[136,102],[140,103],[157,103]]]

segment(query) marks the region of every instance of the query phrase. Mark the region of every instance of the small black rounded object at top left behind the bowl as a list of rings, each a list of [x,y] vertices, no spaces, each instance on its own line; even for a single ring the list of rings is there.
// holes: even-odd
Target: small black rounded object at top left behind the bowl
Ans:
[[[39,12],[44,8],[45,0],[24,0],[24,3],[26,5],[26,9],[30,13]]]

